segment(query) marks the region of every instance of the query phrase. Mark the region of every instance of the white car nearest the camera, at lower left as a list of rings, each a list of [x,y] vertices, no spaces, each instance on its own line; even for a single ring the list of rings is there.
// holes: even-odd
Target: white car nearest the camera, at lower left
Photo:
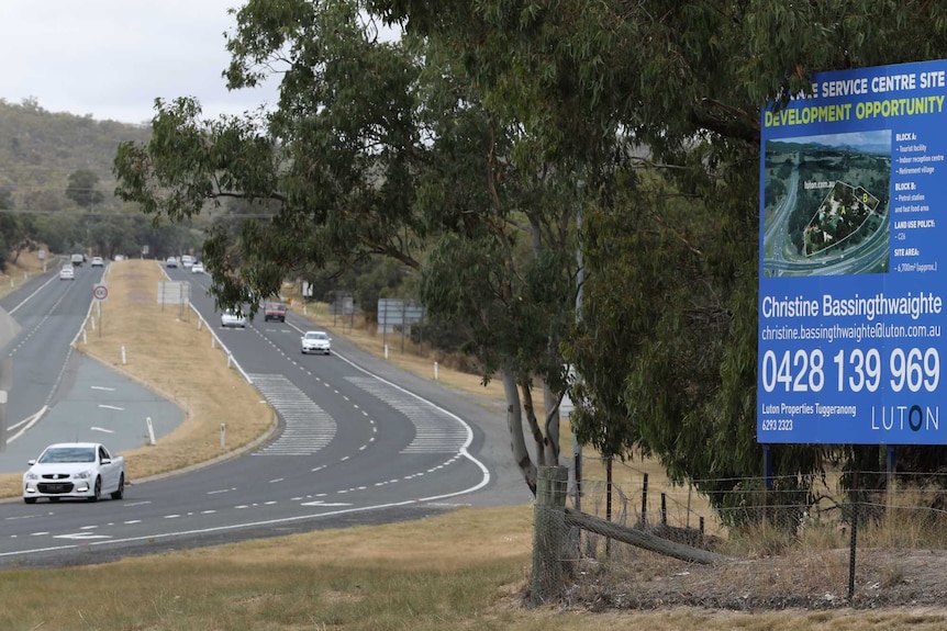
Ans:
[[[27,461],[23,474],[23,502],[34,504],[46,497],[98,502],[108,493],[112,499],[125,495],[125,460],[112,455],[98,442],[60,442],[43,450],[40,458]]]

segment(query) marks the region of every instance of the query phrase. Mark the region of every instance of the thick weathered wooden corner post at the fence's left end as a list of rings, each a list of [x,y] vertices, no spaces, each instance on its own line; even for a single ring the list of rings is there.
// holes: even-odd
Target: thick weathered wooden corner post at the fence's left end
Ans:
[[[566,541],[566,493],[569,470],[541,466],[536,478],[533,511],[533,576],[530,599],[536,606],[558,596],[562,585]]]

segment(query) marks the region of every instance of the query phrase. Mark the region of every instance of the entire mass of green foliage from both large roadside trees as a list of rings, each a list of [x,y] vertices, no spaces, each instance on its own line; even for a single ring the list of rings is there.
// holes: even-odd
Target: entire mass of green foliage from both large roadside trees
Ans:
[[[243,221],[215,216],[204,245],[224,304],[330,261],[421,270],[432,319],[463,334],[484,379],[509,369],[521,387],[539,375],[559,390],[561,351],[583,378],[582,441],[727,491],[708,481],[761,464],[759,111],[817,70],[943,56],[945,11],[249,0],[226,77],[241,88],[280,72],[278,110],[205,122],[192,100],[158,102],[152,139],[119,149],[118,193],[155,221],[256,204]],[[380,42],[372,16],[405,37]],[[588,275],[570,333],[580,206]],[[788,495],[831,451],[772,449]]]

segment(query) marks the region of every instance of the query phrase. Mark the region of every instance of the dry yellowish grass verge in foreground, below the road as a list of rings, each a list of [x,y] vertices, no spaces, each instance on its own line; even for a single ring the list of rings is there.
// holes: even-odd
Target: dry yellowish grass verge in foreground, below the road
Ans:
[[[465,508],[410,523],[325,530],[99,566],[57,571],[10,570],[0,596],[0,629],[155,631],[342,631],[442,629],[503,631],[789,631],[947,628],[942,609],[724,611],[660,607],[621,610],[561,602],[524,606],[532,511],[530,507]],[[842,555],[794,556],[770,574],[740,565],[715,575],[678,565],[680,586],[755,585],[792,591],[800,581],[844,584]],[[679,563],[679,562],[669,562]],[[642,573],[638,581],[653,579]],[[898,582],[899,567],[888,568]],[[660,577],[658,577],[660,579]],[[634,589],[635,582],[628,585]],[[49,594],[81,594],[49,598]]]

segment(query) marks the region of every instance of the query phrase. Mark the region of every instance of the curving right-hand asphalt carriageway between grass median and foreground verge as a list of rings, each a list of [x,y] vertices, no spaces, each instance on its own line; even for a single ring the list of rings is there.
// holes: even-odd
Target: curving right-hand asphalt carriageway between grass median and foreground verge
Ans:
[[[193,283],[196,309],[216,325],[201,289],[207,279],[170,272]],[[291,313],[285,325],[216,330],[260,390],[260,405],[279,413],[275,440],[244,458],[136,484],[119,502],[0,505],[0,565],[75,563],[531,499],[495,412],[342,339],[333,340],[333,356],[301,356],[300,331],[310,326]]]

